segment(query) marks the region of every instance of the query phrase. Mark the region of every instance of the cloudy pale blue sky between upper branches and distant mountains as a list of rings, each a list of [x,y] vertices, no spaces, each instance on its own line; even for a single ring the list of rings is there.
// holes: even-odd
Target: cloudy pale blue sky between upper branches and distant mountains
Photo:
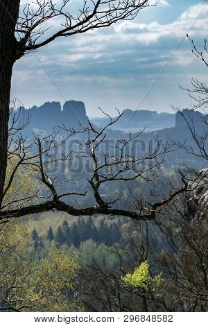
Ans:
[[[89,116],[100,115],[98,106],[111,114],[115,107],[171,112],[171,105],[189,106],[178,85],[189,85],[192,77],[208,78],[184,36],[189,32],[202,48],[208,3],[157,3],[134,21],[65,37],[21,58],[15,64],[12,98],[26,108],[46,101],[84,101]]]

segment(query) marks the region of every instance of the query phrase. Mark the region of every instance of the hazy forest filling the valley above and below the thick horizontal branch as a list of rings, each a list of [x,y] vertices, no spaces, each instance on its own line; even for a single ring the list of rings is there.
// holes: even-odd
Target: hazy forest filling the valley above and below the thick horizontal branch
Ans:
[[[17,112],[12,110],[13,119]],[[179,119],[176,116],[176,130],[182,119],[186,121],[187,114],[193,114],[190,119],[195,118],[195,126],[207,117],[191,110],[178,114],[182,114],[182,117]],[[96,126],[92,127],[95,133],[94,128]],[[204,128],[198,130],[205,132]],[[107,130],[106,141],[112,132],[114,130]],[[138,159],[141,173],[136,177],[133,175],[133,178],[131,169],[135,167],[129,166],[132,164],[130,162],[122,170],[123,179],[111,182],[105,175],[110,173],[110,179],[114,180],[114,176],[121,173],[118,168],[121,169],[123,162],[120,164],[120,161],[123,158],[115,163],[114,155],[117,154],[109,146],[109,155],[112,155],[112,163],[109,164],[119,164],[112,171],[106,169],[108,156],[105,152],[103,160],[103,148],[98,148],[96,153],[100,164],[104,162],[105,169],[101,176],[107,181],[101,185],[101,197],[98,199],[102,198],[103,203],[109,202],[115,209],[140,211],[138,216],[143,216],[143,211],[149,209],[147,207],[153,207],[155,198],[158,207],[164,200],[155,220],[101,213],[73,216],[49,209],[48,212],[34,212],[1,223],[2,311],[207,311],[208,228],[202,201],[207,198],[207,169],[200,170],[203,164],[206,166],[207,157],[200,155],[198,158],[196,152],[196,158],[194,152],[191,153],[200,150],[201,143],[194,144],[194,139],[190,138],[188,143],[182,144],[183,137],[191,132],[190,128],[184,131],[184,136],[181,132],[178,141],[174,128],[164,132],[175,135],[175,139],[173,137],[166,145],[167,149],[162,151],[161,157],[156,138],[156,149],[154,146],[148,149],[152,154],[146,153],[147,150],[140,154],[137,151],[135,155],[146,154],[146,159],[142,164],[140,160],[143,159]],[[139,132],[140,136],[144,137],[143,133]],[[86,130],[82,132],[82,137],[87,137]],[[99,145],[102,145],[102,137]],[[152,137],[151,132],[145,137]],[[127,139],[121,139],[122,146],[127,146],[125,157],[130,155],[129,141],[135,138]],[[81,138],[78,140],[78,146],[87,144],[82,141]],[[104,148],[107,148],[107,144],[104,144]],[[44,178],[47,178],[45,183],[51,187],[53,183],[48,175],[59,173],[55,191],[67,193],[70,190],[70,194],[77,194],[81,182],[86,193],[76,196],[74,200],[69,197],[68,205],[96,207],[98,199],[94,197],[94,183],[92,189],[87,185],[92,182],[90,156],[85,155],[86,151],[80,153],[72,161],[55,160],[55,168],[53,162],[49,162],[44,174]],[[36,152],[32,151],[29,155],[36,157]],[[55,148],[53,155],[47,154],[44,160],[57,155]],[[193,157],[193,160],[187,162],[186,155]],[[79,162],[76,171],[71,169],[71,164],[76,165],[74,160]],[[197,166],[196,169],[191,168],[195,160],[198,160],[200,173]],[[22,198],[28,198],[29,202],[32,200],[33,205],[41,205],[42,198],[49,196],[47,188],[42,187],[40,178],[37,178],[38,165],[34,162],[33,159],[29,169],[27,165],[22,165],[15,171],[18,157],[12,153],[6,175],[6,182],[12,182],[3,200],[4,207],[16,208],[21,212]],[[64,181],[66,167],[68,173],[70,171],[67,186]],[[128,184],[124,187],[125,179]],[[184,189],[181,182],[184,182]]]

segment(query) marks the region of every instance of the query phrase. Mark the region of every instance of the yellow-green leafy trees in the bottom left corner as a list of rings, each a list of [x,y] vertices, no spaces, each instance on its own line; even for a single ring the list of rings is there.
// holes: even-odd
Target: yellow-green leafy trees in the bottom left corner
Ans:
[[[44,257],[28,257],[29,246],[26,223],[1,226],[0,311],[80,311],[78,257],[52,246]]]

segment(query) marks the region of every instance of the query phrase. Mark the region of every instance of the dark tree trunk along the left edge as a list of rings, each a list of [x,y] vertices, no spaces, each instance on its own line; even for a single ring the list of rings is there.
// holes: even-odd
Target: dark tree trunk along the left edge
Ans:
[[[16,60],[15,26],[20,0],[0,1],[0,209],[6,178],[12,67]]]

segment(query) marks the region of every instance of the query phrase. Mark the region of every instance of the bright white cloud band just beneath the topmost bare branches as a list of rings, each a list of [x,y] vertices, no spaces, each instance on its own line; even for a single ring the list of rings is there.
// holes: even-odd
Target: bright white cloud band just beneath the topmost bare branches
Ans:
[[[164,1],[160,1],[162,3]],[[165,1],[166,2],[166,1]],[[190,6],[186,11],[169,24],[139,24],[137,22],[125,21],[106,28],[105,33],[101,30],[94,30],[86,35],[59,39],[50,45],[46,55],[40,56],[44,65],[54,65],[54,60],[58,65],[65,67],[80,67],[79,64],[91,65],[92,62],[113,62],[122,55],[128,55],[135,46],[148,46],[164,38],[181,38],[186,35],[191,28],[191,36],[207,36],[208,32],[208,5],[198,3]],[[198,19],[196,19],[198,17]],[[164,42],[161,40],[160,42]],[[167,52],[168,50],[165,50]],[[177,60],[176,60],[177,58]],[[184,60],[182,53],[175,53],[175,65],[188,65],[190,60]],[[159,65],[159,64],[157,64]],[[87,67],[87,66],[86,66]]]

